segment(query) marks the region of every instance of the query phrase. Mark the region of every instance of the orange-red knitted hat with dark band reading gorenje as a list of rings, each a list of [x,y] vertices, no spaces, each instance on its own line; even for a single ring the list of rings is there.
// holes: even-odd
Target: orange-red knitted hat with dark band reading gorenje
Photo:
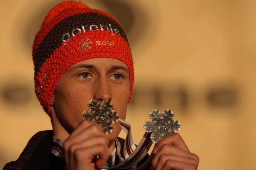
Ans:
[[[56,5],[46,15],[33,45],[35,92],[47,114],[62,74],[75,63],[96,57],[118,59],[128,66],[131,99],[133,59],[120,23],[81,2]]]

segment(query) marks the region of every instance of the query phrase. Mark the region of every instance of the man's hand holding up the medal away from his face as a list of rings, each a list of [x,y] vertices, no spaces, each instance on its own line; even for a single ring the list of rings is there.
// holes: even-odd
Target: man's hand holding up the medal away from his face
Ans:
[[[152,166],[155,170],[196,170],[199,157],[190,153],[178,133],[158,141],[153,151]]]

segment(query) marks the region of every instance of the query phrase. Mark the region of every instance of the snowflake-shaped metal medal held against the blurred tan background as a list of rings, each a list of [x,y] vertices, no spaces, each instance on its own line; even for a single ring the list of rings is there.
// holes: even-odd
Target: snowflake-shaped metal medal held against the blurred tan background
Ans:
[[[150,138],[154,143],[180,130],[180,123],[178,120],[172,119],[174,114],[169,109],[163,110],[163,113],[158,110],[151,110],[148,116],[151,120],[146,121],[143,128],[146,132],[152,132]]]

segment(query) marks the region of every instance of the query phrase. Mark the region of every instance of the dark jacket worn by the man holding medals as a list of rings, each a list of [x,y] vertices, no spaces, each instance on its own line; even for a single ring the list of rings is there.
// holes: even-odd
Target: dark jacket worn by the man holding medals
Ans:
[[[16,161],[5,165],[3,170],[64,170],[64,158],[55,156],[51,152],[52,130],[37,132],[30,138]],[[118,138],[121,144],[122,138]],[[149,155],[146,155],[138,164],[139,167]],[[66,168],[65,168],[66,169]]]

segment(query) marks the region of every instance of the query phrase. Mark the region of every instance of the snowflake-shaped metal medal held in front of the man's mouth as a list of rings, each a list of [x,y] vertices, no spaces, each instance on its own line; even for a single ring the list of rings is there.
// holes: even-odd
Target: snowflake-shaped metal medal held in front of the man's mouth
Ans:
[[[99,103],[98,100],[91,100],[88,107],[90,109],[83,112],[82,118],[99,123],[103,127],[104,133],[110,134],[113,129],[111,123],[116,123],[119,119],[110,101],[104,100]]]

